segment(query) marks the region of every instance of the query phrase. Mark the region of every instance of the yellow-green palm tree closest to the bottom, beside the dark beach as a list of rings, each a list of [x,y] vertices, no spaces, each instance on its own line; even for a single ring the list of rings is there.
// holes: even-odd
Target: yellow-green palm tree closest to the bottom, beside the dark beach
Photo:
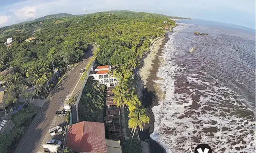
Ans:
[[[140,131],[143,131],[143,124],[149,123],[149,117],[145,115],[146,109],[141,107],[136,107],[132,112],[129,113],[128,128],[131,128],[133,132],[132,139],[137,127]]]

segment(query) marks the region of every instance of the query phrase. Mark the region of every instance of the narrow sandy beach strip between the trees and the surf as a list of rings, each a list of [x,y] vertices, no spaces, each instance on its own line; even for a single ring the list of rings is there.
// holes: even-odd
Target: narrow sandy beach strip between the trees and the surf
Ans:
[[[176,27],[176,26],[175,26]],[[171,27],[173,30],[174,27]],[[158,39],[152,44],[151,51],[143,56],[139,66],[137,80],[137,94],[146,108],[146,115],[150,118],[149,124],[146,124],[143,131],[139,132],[141,144],[143,148],[142,153],[166,153],[162,146],[150,138],[150,134],[154,131],[154,114],[152,108],[158,104],[163,98],[163,92],[159,83],[154,80],[160,80],[157,72],[162,64],[162,50],[164,45],[169,40],[168,33],[164,37]],[[147,149],[149,148],[149,149]]]

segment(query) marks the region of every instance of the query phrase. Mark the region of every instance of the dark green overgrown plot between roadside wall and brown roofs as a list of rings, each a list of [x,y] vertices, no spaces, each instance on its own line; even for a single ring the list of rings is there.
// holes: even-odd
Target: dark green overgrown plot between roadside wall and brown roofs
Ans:
[[[106,88],[104,85],[94,86],[91,78],[82,91],[78,105],[79,121],[104,122],[104,102]]]

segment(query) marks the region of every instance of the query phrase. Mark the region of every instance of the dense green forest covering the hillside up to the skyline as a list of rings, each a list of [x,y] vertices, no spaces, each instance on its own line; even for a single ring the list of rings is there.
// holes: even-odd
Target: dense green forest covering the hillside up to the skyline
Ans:
[[[100,45],[97,51],[99,63],[127,63],[148,51],[150,39],[164,35],[165,25],[175,25],[165,15],[132,11],[61,16],[68,17],[50,15],[0,28],[0,71],[14,67],[22,80],[15,84],[33,85],[35,81],[28,80],[35,78],[25,79],[32,77],[28,72],[36,71],[42,65],[51,68],[52,63],[64,72],[66,65],[81,59],[90,43]],[[14,39],[11,48],[4,45],[9,37]],[[36,41],[25,42],[30,37],[36,37]]]

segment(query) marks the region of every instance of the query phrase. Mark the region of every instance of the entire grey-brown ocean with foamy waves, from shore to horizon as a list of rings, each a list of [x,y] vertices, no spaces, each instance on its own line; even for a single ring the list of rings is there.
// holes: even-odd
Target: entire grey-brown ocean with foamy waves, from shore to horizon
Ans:
[[[152,108],[150,137],[167,153],[194,153],[202,143],[213,153],[255,153],[255,31],[206,20],[176,22],[159,57],[161,79],[154,82],[165,97]]]

